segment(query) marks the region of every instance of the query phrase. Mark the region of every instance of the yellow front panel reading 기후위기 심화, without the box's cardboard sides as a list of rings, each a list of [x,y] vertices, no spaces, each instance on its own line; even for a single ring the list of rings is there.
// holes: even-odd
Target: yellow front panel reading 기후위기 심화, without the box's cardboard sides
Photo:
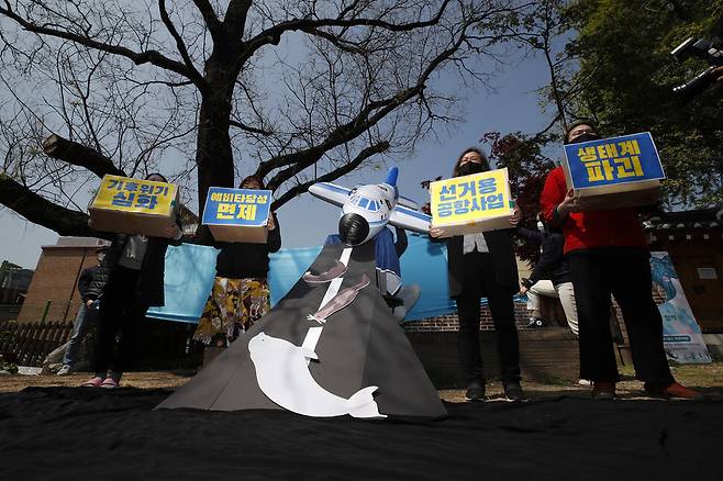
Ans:
[[[168,216],[176,206],[176,186],[129,177],[104,176],[91,208]]]

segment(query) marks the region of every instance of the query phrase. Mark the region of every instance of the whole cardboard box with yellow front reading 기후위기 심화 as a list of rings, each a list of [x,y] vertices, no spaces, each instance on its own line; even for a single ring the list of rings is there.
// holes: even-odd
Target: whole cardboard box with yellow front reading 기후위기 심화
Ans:
[[[176,223],[177,208],[173,183],[104,176],[88,212],[97,231],[164,237]]]

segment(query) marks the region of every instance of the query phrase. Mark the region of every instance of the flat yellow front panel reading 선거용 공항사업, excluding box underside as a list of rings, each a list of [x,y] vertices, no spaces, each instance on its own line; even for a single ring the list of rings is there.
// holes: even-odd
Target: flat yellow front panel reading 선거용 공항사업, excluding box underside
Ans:
[[[433,225],[510,215],[507,168],[432,182],[430,192]]]

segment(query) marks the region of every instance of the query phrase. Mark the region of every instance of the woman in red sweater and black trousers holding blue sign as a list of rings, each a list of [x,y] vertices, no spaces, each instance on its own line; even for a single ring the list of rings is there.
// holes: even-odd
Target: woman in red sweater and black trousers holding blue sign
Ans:
[[[570,125],[566,144],[601,138],[588,120]],[[653,299],[649,251],[635,208],[583,211],[553,169],[540,198],[545,220],[559,226],[575,288],[580,339],[580,378],[592,381],[594,399],[613,399],[620,380],[610,332],[611,295],[627,328],[633,365],[650,395],[698,398],[675,381],[663,347],[663,318]]]

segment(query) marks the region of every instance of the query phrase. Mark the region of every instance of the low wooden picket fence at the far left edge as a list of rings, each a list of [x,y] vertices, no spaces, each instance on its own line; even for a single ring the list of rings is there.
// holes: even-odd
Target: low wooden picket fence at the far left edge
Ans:
[[[40,367],[53,349],[64,344],[73,331],[71,322],[0,322],[0,354],[19,366]]]

